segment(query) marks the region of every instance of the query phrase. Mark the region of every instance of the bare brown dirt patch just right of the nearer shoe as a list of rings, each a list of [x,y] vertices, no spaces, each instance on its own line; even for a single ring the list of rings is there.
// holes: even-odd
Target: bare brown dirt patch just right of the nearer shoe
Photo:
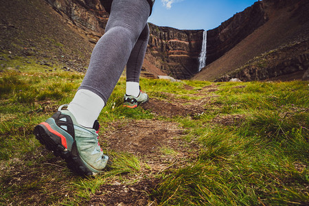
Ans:
[[[102,139],[107,148],[116,152],[130,152],[150,166],[151,172],[160,172],[168,165],[182,163],[192,157],[192,150],[197,148],[192,143],[181,139],[185,131],[177,123],[158,119],[118,121],[111,123]],[[172,150],[165,154],[164,149]]]

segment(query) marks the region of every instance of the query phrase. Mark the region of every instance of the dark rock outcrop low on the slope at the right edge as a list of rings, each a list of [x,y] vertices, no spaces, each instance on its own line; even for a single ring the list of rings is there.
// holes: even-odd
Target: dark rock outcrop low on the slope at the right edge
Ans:
[[[277,80],[278,77],[281,77],[279,80],[306,80],[303,76],[306,76],[304,73],[309,68],[308,47],[309,41],[303,41],[267,52],[240,69],[218,78],[216,82],[228,82],[233,78],[243,82]]]

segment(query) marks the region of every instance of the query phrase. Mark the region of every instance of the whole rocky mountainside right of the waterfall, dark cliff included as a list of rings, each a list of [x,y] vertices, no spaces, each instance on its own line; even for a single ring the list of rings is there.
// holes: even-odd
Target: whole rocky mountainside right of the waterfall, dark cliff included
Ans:
[[[301,79],[309,65],[308,34],[309,1],[258,1],[207,31],[209,64],[193,79]]]

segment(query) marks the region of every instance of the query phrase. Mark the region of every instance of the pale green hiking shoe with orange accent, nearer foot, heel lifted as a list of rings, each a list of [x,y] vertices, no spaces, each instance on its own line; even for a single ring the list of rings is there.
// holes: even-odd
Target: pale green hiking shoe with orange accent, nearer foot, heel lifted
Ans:
[[[100,124],[95,120],[93,128],[81,126],[68,110],[58,111],[34,128],[34,135],[47,150],[62,157],[67,167],[80,175],[95,175],[108,163],[98,143]]]

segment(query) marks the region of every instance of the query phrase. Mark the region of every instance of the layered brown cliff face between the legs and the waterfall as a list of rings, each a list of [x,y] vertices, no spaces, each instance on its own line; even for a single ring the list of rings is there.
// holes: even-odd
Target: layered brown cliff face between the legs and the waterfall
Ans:
[[[203,43],[203,30],[176,30],[150,25],[146,59],[177,79],[191,78],[198,72],[198,56]]]

